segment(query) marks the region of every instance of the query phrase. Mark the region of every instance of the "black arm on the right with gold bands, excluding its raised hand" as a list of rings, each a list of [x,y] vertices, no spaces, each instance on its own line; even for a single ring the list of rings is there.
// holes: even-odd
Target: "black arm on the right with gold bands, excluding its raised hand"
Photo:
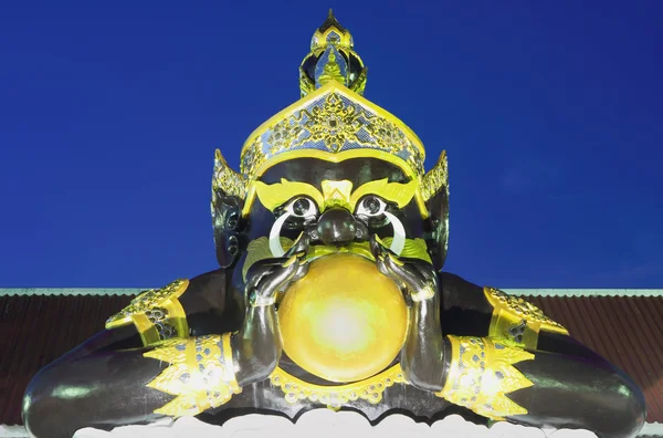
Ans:
[[[491,307],[487,333],[446,336],[451,357],[440,396],[493,419],[585,428],[600,437],[638,434],[644,397],[628,375],[527,301],[478,290]],[[469,376],[481,379],[473,390],[480,389],[482,400],[467,398],[457,384]]]

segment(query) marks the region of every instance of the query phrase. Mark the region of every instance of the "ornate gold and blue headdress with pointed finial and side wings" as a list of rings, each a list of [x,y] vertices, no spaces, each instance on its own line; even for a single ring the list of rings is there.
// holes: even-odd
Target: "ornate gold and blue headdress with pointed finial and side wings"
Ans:
[[[249,136],[239,174],[217,150],[213,188],[241,199],[251,197],[251,182],[266,169],[301,157],[338,161],[376,157],[390,161],[420,181],[420,205],[446,188],[445,154],[424,174],[425,152],[417,135],[396,116],[362,97],[366,72],[354,51],[350,32],[329,11],[299,66],[302,98]]]

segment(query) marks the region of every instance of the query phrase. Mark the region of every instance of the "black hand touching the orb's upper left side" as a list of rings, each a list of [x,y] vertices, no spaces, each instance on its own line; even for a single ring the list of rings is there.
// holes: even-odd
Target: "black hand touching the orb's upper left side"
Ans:
[[[252,305],[272,305],[276,293],[306,274],[308,234],[302,233],[284,257],[261,260],[246,273],[246,292]]]

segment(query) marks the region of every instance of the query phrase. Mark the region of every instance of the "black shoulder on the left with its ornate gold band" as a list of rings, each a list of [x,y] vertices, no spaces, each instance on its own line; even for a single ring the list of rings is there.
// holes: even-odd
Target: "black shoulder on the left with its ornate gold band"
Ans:
[[[225,304],[227,274],[217,270],[191,280],[143,291],[106,321],[106,328],[134,324],[145,345],[190,334],[193,314],[219,314]]]

